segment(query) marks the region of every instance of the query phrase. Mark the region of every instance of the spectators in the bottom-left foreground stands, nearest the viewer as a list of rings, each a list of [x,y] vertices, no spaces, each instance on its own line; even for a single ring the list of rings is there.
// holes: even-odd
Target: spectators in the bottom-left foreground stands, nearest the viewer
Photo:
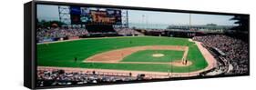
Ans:
[[[65,72],[65,70],[37,70],[37,86],[84,85],[137,80],[131,75],[102,75],[97,72]]]

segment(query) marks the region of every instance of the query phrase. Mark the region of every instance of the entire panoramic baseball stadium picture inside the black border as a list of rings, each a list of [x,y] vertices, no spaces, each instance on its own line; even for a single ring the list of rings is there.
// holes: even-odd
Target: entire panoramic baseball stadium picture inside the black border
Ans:
[[[36,86],[249,75],[249,15],[36,5]]]

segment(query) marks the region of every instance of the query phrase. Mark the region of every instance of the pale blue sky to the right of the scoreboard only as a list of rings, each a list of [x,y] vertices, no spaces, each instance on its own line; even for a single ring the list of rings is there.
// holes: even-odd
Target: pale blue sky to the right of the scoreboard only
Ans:
[[[188,13],[169,13],[156,11],[128,10],[129,23],[189,25]],[[233,15],[202,15],[191,14],[191,25],[234,25],[230,21]]]

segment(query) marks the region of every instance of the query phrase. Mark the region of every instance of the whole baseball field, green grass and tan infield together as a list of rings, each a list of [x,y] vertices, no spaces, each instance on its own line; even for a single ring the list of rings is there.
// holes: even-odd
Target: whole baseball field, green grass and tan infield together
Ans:
[[[208,66],[199,47],[189,38],[101,37],[36,46],[38,66],[173,73]],[[188,64],[181,65],[184,58]]]

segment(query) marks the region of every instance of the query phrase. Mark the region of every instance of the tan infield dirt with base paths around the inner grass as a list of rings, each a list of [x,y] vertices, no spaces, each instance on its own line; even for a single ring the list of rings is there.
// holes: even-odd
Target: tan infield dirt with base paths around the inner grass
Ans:
[[[192,63],[188,61],[186,65],[182,64],[181,60],[175,60],[176,62],[162,63],[162,62],[120,62],[124,57],[131,55],[135,52],[142,50],[176,50],[184,51],[182,60],[186,59],[189,51],[188,46],[179,46],[179,45],[147,45],[147,46],[136,46],[128,47],[118,50],[111,50],[101,54],[93,55],[88,57],[84,62],[87,63],[122,63],[122,64],[170,64],[176,66],[188,66]]]

